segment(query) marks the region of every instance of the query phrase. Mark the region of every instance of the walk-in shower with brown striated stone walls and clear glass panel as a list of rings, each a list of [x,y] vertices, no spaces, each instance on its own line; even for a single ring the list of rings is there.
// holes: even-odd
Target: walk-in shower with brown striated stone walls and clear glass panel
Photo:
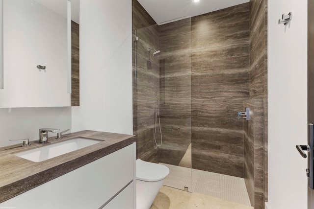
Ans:
[[[250,205],[248,122],[237,118],[249,99],[249,3],[161,25],[137,6],[137,158],[168,166],[167,186]]]

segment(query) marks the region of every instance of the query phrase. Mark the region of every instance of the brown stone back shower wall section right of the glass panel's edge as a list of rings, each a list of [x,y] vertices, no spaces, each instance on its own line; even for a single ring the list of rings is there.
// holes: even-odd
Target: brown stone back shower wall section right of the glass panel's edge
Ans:
[[[244,175],[249,3],[192,18],[192,167]]]

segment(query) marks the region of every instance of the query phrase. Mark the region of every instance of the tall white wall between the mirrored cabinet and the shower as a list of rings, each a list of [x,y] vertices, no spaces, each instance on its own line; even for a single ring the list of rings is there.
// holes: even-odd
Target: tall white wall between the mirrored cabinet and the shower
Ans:
[[[132,134],[131,0],[80,0],[80,107],[72,131]]]

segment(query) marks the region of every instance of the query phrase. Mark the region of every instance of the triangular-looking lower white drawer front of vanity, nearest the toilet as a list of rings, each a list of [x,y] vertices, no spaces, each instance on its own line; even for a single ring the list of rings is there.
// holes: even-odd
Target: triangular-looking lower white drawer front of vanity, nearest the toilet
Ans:
[[[133,182],[122,190],[113,200],[103,209],[133,209]]]

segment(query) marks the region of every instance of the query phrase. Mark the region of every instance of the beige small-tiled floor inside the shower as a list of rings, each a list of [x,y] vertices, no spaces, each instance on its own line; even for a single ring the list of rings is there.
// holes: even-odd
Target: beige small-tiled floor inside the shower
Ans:
[[[166,165],[170,173],[163,185],[229,200],[251,206],[243,178],[228,176],[203,170],[191,169],[176,165]]]

